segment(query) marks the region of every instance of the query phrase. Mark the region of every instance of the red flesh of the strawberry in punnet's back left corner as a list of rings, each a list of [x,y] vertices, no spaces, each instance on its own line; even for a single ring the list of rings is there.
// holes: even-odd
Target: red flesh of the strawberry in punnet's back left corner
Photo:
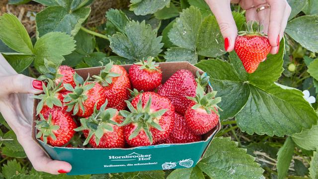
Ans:
[[[69,67],[67,65],[60,66],[59,69],[57,70],[55,84],[57,85],[60,82],[62,82],[61,87],[63,87],[63,84],[70,84],[74,88],[76,86],[73,79],[74,74],[75,74],[75,70],[72,67]],[[63,88],[61,92],[66,90],[67,89]]]

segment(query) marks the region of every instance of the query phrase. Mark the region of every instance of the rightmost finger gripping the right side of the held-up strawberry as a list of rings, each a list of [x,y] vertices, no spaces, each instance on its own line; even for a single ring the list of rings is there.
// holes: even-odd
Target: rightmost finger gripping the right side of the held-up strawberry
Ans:
[[[270,16],[268,25],[268,40],[272,47],[277,47],[280,41],[282,22],[284,19],[286,0],[267,0],[270,5]]]

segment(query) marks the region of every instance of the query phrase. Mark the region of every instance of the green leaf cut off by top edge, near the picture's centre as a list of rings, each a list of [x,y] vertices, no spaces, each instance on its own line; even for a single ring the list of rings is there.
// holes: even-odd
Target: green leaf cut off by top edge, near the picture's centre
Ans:
[[[170,0],[130,0],[129,10],[136,15],[147,15],[155,13],[170,3]]]

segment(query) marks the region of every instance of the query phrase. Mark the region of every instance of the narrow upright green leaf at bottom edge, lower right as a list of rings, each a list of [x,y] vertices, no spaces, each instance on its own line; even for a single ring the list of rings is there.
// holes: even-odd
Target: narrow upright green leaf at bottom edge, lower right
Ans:
[[[277,153],[278,179],[285,179],[294,155],[294,142],[288,137]]]

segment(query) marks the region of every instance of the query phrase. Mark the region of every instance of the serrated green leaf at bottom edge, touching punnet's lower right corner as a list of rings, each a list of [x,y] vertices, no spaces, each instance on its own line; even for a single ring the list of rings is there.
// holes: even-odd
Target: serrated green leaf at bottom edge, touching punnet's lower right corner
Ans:
[[[216,137],[197,166],[212,179],[265,179],[254,160],[230,137]]]

